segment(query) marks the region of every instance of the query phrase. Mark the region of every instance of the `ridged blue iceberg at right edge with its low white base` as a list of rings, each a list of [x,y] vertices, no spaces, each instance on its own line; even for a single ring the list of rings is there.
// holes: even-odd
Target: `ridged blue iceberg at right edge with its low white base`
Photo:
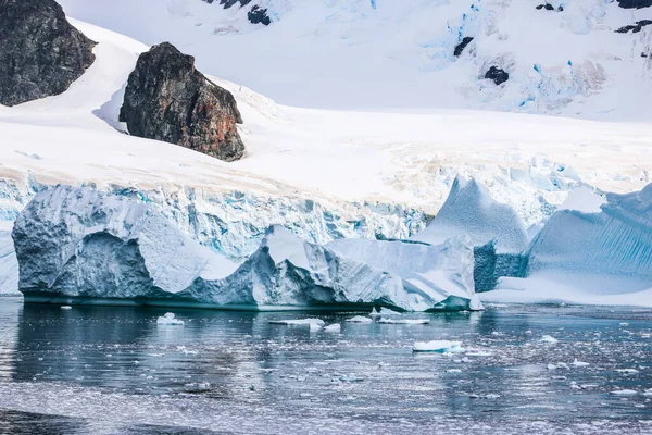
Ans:
[[[482,299],[652,306],[652,185],[607,194],[601,210],[554,213],[527,251],[527,278]]]

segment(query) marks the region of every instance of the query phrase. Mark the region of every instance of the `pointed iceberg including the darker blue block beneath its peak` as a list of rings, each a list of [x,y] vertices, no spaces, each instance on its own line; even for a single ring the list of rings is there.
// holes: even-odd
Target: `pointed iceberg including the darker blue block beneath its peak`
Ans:
[[[492,290],[501,276],[523,276],[525,224],[510,206],[493,200],[486,186],[457,176],[435,220],[411,240],[442,244],[461,236],[474,247],[476,291]]]

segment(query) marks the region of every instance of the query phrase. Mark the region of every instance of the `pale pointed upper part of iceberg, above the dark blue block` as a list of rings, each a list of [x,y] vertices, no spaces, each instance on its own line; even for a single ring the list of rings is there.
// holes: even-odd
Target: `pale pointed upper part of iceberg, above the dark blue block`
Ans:
[[[523,221],[510,206],[494,201],[475,179],[460,176],[435,220],[411,239],[441,244],[459,236],[469,237],[475,247],[493,241],[498,253],[519,253],[528,241]]]

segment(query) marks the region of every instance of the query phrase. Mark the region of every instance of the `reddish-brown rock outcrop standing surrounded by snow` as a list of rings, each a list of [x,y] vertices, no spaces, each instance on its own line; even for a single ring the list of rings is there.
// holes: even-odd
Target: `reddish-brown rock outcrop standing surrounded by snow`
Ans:
[[[140,54],[129,75],[120,121],[129,134],[163,140],[225,161],[244,145],[236,99],[195,69],[195,58],[163,42]]]

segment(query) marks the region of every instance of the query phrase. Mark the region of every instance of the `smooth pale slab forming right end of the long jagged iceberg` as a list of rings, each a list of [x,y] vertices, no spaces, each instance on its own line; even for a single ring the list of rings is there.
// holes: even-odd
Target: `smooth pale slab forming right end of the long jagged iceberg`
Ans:
[[[397,274],[405,289],[415,295],[439,301],[454,296],[465,299],[468,309],[481,308],[475,296],[473,249],[467,239],[453,238],[441,245],[339,239],[326,247],[341,256]]]

